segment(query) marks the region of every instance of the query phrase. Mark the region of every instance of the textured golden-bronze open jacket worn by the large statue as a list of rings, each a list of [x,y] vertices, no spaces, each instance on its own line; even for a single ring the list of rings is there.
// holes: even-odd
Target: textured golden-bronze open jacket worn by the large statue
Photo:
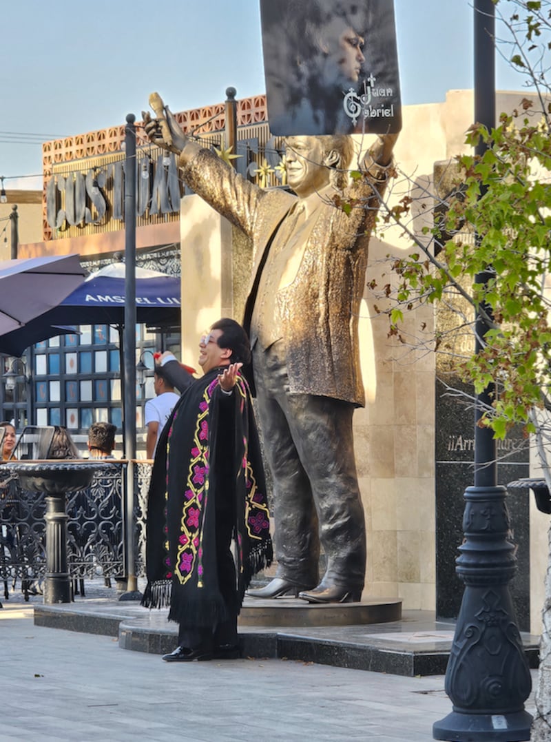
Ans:
[[[294,280],[277,292],[291,393],[365,404],[357,323],[369,234],[380,203],[375,185],[382,193],[386,180],[381,172],[384,168],[346,188],[343,199],[353,205],[348,216],[329,199],[316,209],[306,242],[297,246],[302,258],[295,261]],[[271,238],[297,197],[249,183],[205,149],[185,161],[182,174],[195,193],[251,238],[253,272],[243,321],[250,332]]]

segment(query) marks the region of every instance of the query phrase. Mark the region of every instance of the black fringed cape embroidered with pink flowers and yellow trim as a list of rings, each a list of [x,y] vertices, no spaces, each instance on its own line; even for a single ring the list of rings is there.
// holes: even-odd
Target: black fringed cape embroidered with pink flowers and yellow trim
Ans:
[[[253,574],[272,558],[248,385],[239,376],[225,396],[219,373],[214,369],[194,381],[176,403],[159,438],[149,489],[142,605],[170,605],[168,620],[193,628],[228,617],[217,575],[217,500],[232,498],[239,606]]]

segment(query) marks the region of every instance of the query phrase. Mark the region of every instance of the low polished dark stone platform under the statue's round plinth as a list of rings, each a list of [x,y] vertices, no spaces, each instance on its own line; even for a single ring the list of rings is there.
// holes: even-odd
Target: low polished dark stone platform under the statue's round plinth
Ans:
[[[126,603],[35,607],[35,623],[119,637],[122,649],[167,654],[177,643],[178,626],[168,611],[147,611]],[[241,657],[286,658],[334,667],[414,677],[444,674],[454,625],[428,611],[405,611],[401,620],[366,626],[240,626]],[[529,666],[538,666],[539,637],[523,636]],[[214,660],[228,662],[230,660]]]

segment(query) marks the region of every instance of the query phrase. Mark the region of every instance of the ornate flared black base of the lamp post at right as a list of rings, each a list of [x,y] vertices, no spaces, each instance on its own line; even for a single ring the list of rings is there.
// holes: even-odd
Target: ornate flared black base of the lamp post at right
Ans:
[[[432,727],[437,740],[524,742],[532,689],[509,582],[516,571],[505,487],[467,487],[465,539],[457,573],[465,583],[446,669],[451,714]]]

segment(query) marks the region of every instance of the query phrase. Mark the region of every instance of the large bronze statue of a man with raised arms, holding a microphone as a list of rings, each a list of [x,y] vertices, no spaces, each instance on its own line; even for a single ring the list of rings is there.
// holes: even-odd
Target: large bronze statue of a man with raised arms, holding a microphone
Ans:
[[[360,600],[366,533],[352,413],[365,395],[357,321],[397,135],[377,140],[349,185],[339,181],[352,162],[350,137],[288,138],[289,193],[243,180],[185,137],[168,108],[161,119],[144,114],[144,122],[152,142],[179,153],[185,183],[253,244],[243,326],[273,479],[277,573],[248,594]],[[326,571],[318,582],[320,542]]]

